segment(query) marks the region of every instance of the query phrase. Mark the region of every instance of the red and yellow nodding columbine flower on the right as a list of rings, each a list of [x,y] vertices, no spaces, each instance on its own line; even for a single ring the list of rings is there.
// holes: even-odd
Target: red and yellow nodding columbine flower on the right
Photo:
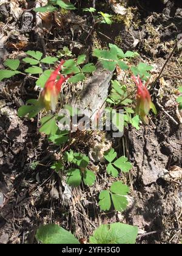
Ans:
[[[149,90],[147,89],[147,83],[143,85],[140,76],[138,76],[137,78],[135,76],[132,76],[132,79],[137,86],[135,112],[137,115],[141,116],[141,119],[143,119],[144,123],[149,124],[149,119],[147,118],[147,115],[149,115],[150,109],[152,109],[153,113],[155,114],[157,114],[157,110],[151,100]]]

